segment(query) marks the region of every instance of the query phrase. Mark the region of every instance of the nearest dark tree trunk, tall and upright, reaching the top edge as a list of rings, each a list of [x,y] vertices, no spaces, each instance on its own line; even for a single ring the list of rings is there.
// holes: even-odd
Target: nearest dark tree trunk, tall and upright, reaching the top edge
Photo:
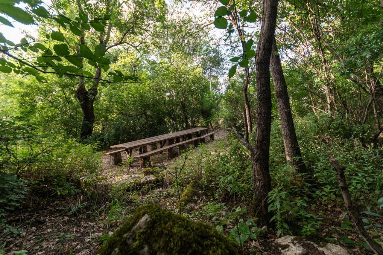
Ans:
[[[257,126],[255,145],[252,152],[252,174],[255,192],[254,210],[260,212],[257,217],[261,224],[269,225],[272,214],[268,212],[267,195],[271,190],[271,178],[268,161],[270,157],[271,129],[271,90],[270,90],[270,54],[277,20],[278,0],[264,0],[262,26],[257,54]],[[259,209],[258,209],[259,208]]]

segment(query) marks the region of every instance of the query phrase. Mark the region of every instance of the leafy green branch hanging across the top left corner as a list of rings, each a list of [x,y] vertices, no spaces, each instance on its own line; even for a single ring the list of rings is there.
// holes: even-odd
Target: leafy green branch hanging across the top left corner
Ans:
[[[15,4],[24,2],[28,6],[23,10]],[[81,8],[78,16],[69,18],[61,13],[49,11],[43,7],[41,0],[0,0],[0,13],[7,18],[0,17],[3,25],[11,26],[12,22],[8,17],[23,23],[25,25],[39,24],[40,21],[46,19],[54,23],[54,30],[45,33],[45,40],[27,40],[21,39],[20,43],[13,43],[0,33],[0,52],[5,58],[0,59],[0,72],[21,75],[33,75],[39,82],[46,82],[46,78],[42,74],[57,74],[59,77],[63,75],[84,77],[104,81],[107,83],[123,83],[136,82],[137,77],[132,75],[124,75],[119,71],[110,71],[111,57],[105,56],[108,49],[104,42],[100,41],[93,50],[87,44],[79,44],[78,47],[70,45],[71,38],[80,36],[85,33],[106,34],[106,27],[110,22],[111,15],[105,13],[92,19]],[[110,32],[110,31],[109,31]],[[90,68],[84,67],[84,62]],[[91,72],[93,68],[101,68],[107,77],[101,78]]]

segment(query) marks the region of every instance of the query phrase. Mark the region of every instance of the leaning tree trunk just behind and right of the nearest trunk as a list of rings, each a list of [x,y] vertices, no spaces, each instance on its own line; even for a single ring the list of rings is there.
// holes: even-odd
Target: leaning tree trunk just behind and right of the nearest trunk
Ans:
[[[272,53],[270,57],[270,68],[277,98],[278,113],[281,123],[283,144],[285,145],[286,160],[298,173],[309,173],[310,171],[304,164],[301,150],[296,138],[293,115],[291,114],[290,99],[287,92],[287,85],[281,60],[278,54],[277,42],[273,41]]]

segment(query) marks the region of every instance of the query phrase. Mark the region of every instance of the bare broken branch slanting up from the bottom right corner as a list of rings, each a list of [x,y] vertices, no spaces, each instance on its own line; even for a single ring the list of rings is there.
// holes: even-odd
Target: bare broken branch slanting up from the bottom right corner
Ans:
[[[373,250],[373,252],[379,255],[383,254],[382,248],[378,244],[376,244],[374,239],[372,239],[370,234],[368,234],[367,230],[365,230],[363,222],[359,217],[359,212],[355,205],[352,203],[349,185],[347,185],[347,181],[344,176],[345,167],[340,165],[331,153],[329,154],[329,160],[332,167],[334,167],[337,172],[339,188],[340,191],[342,191],[344,204],[346,206],[347,211],[349,211],[350,217],[354,222],[355,226],[357,227],[359,234],[362,235],[365,242],[368,245],[370,245],[370,248]]]

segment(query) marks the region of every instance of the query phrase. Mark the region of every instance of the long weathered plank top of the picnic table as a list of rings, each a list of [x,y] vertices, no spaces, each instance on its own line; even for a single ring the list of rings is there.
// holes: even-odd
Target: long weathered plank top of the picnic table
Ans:
[[[126,142],[126,143],[118,144],[118,145],[112,145],[110,147],[111,148],[134,149],[134,148],[149,145],[149,144],[155,144],[157,142],[161,142],[164,140],[169,140],[169,139],[174,139],[174,138],[181,137],[181,136],[186,136],[188,134],[193,134],[195,132],[204,131],[206,129],[208,129],[208,128],[207,127],[194,127],[194,128],[190,128],[190,129],[186,129],[186,130],[182,130],[182,131],[177,131],[177,132],[173,132],[173,133],[169,133],[169,134],[163,134],[160,136],[153,136],[153,137],[149,137],[149,138],[145,138],[145,139],[141,139],[141,140],[137,140],[137,141]]]

